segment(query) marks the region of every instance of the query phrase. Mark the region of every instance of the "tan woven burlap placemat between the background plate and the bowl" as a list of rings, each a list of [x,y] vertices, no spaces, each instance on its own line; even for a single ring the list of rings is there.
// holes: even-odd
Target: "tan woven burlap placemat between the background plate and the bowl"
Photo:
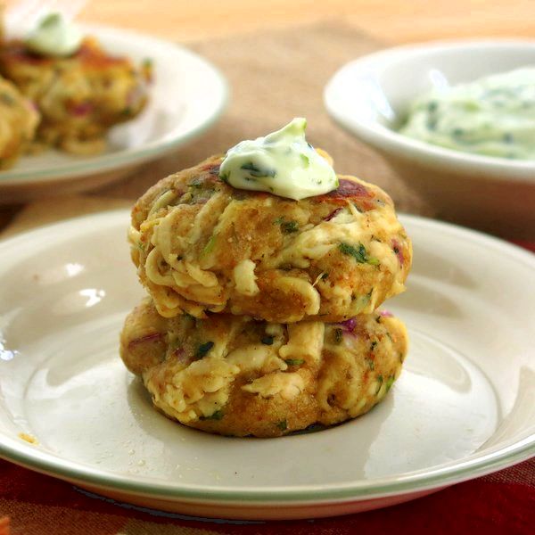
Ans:
[[[72,215],[128,206],[161,177],[225,152],[238,141],[265,135],[296,116],[308,119],[309,141],[331,153],[339,173],[381,185],[398,210],[431,215],[378,154],[333,123],[323,105],[323,88],[333,73],[343,63],[381,47],[373,37],[342,21],[328,21],[190,47],[213,62],[229,82],[230,103],[217,125],[118,183],[83,196],[30,203],[12,219],[4,235]]]

